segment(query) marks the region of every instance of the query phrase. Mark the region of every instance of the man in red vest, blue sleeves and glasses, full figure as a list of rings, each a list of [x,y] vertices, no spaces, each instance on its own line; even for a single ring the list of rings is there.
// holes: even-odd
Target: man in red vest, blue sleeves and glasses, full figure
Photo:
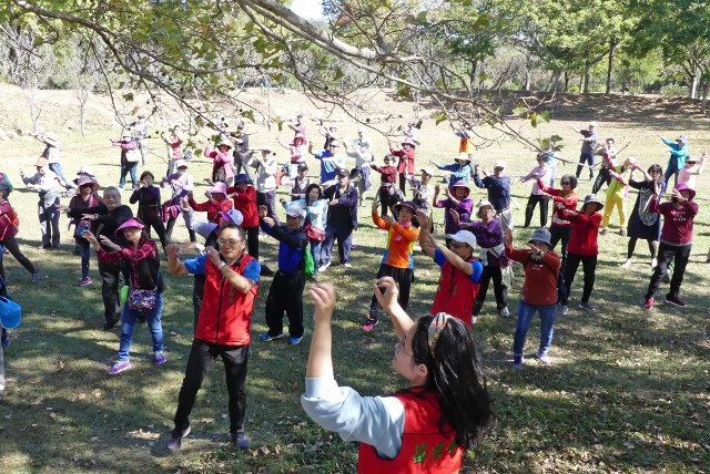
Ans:
[[[230,437],[234,445],[246,449],[244,434],[246,409],[246,362],[251,341],[252,309],[256,298],[260,265],[244,253],[246,234],[235,225],[220,233],[220,251],[213,247],[205,255],[180,261],[175,245],[166,247],[168,270],[172,275],[204,274],[204,297],[192,341],[190,358],[178,396],[175,429],[168,449],[178,451],[190,434],[190,412],[204,374],[217,356],[222,356],[230,393]]]

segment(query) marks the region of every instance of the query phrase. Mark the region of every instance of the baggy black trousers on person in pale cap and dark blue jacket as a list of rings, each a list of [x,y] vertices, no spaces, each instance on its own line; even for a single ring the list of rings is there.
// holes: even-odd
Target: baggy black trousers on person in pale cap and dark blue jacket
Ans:
[[[266,326],[268,336],[281,336],[284,332],[284,312],[288,317],[288,334],[293,338],[303,336],[303,288],[306,277],[303,271],[284,274],[276,271],[266,297]]]

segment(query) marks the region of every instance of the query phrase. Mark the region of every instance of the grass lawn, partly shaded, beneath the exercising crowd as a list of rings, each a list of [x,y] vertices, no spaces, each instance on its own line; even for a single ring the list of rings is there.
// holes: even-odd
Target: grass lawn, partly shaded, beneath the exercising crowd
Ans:
[[[530,130],[524,122],[515,125],[534,136],[561,135],[566,144],[561,156],[576,162],[579,136],[569,125],[584,126],[586,118],[565,116],[537,130]],[[694,153],[710,148],[707,120],[679,122],[674,116],[652,116],[647,122],[633,123],[597,120],[600,137],[615,136],[620,146],[630,141],[625,156],[637,156],[645,167],[652,163],[666,166],[668,152],[656,136],[658,133],[670,138],[687,133]],[[341,133],[355,136],[355,126],[342,125]],[[281,136],[288,138],[290,134],[283,132]],[[81,163],[88,163],[103,186],[118,182],[119,153],[108,146],[106,135],[60,138],[65,144],[63,168],[68,177],[73,177]],[[373,138],[376,156],[382,159],[385,142],[377,136]],[[449,162],[458,150],[457,138],[443,125],[435,127],[433,121],[425,121],[419,140],[418,165],[428,159]],[[253,137],[254,145],[265,142],[275,144],[275,136],[267,138],[265,132],[260,132]],[[321,143],[320,137],[316,143]],[[155,143],[155,148],[158,154],[151,155],[149,169],[160,175],[165,168],[161,161],[162,143]],[[8,388],[6,400],[0,403],[0,472],[355,472],[357,446],[316,426],[300,405],[312,328],[310,301],[305,308],[306,337],[300,346],[257,340],[252,346],[246,413],[252,449],[236,452],[229,445],[226,390],[222,363],[216,361],[197,396],[192,434],[184,441],[181,453],[170,455],[164,442],[172,427],[192,340],[192,279],[168,277],[163,330],[169,362],[160,368],[152,365],[150,334],[144,326],[139,326],[132,348],[133,370],[106,375],[118,352],[119,331],[101,329],[103,307],[95,259],[94,284],[79,288],[79,257],[72,255],[69,233],[62,235],[59,250],[36,248],[40,238],[34,214],[37,194],[21,186],[17,167],[22,166],[29,173],[41,145],[20,138],[3,142],[3,152],[1,171],[17,186],[11,202],[21,220],[18,238],[22,250],[40,268],[42,282],[30,285],[27,271],[11,256],[4,257],[9,287],[12,297],[23,306],[24,320],[11,331],[12,344],[6,353]],[[283,151],[278,155],[283,162]],[[488,168],[495,159],[506,159],[508,175],[515,177],[535,165],[534,153],[510,141],[480,150],[477,157]],[[199,159],[191,164],[195,182],[207,176],[210,166]],[[316,174],[315,162],[311,169],[312,175]],[[574,169],[572,165],[560,164],[557,183],[561,173]],[[688,308],[658,305],[651,312],[640,309],[651,272],[650,258],[646,244],[639,243],[633,266],[619,267],[626,258],[627,239],[616,233],[616,215],[609,235],[599,237],[592,295],[599,311],[587,313],[576,309],[581,280],[578,275],[570,312],[556,321],[551,365],[544,367],[528,357],[523,372],[511,370],[520,280],[510,291],[509,319],[496,315],[489,289],[474,337],[495,399],[497,425],[478,449],[467,453],[465,470],[710,472],[710,266],[704,264],[710,247],[710,177],[701,176],[699,183],[696,200],[700,214],[682,287]],[[578,193],[584,196],[590,187],[582,179]],[[206,184],[202,183],[199,189],[202,194]],[[280,197],[286,192],[282,187]],[[129,194],[123,194],[126,203]],[[523,224],[528,194],[529,184],[514,186],[518,226]],[[164,193],[163,197],[166,196]],[[478,202],[485,194],[476,189],[473,197]],[[629,213],[635,199],[635,194],[629,197]],[[374,228],[368,210],[368,204],[361,207],[354,268],[331,267],[323,279],[335,282],[339,295],[334,321],[338,382],[364,394],[383,394],[403,388],[404,380],[390,367],[392,324],[385,321],[371,333],[359,329],[386,237]],[[442,218],[438,212],[436,221]],[[62,229],[67,221],[62,217]],[[534,223],[537,221],[536,210]],[[440,228],[438,225],[437,237],[443,238]],[[531,229],[520,228],[516,245],[527,241],[530,233]],[[174,238],[186,240],[182,223],[176,226]],[[275,268],[276,245],[267,239],[262,247],[266,262]],[[415,272],[408,312],[425,315],[433,300],[438,268],[417,251]],[[521,276],[519,266],[517,274]],[[253,315],[254,337],[266,330],[264,302],[270,282],[271,278],[264,278],[260,285]],[[663,295],[661,287],[661,300]],[[539,323],[534,321],[526,354],[534,353],[538,336]]]

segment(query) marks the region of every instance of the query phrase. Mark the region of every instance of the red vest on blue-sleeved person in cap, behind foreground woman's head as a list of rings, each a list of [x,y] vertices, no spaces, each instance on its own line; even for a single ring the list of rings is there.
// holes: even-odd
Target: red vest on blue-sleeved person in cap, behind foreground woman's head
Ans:
[[[470,313],[477,295],[478,284],[474,284],[468,275],[457,270],[447,260],[442,267],[439,287],[429,313],[446,312],[460,319],[467,328],[470,328]]]

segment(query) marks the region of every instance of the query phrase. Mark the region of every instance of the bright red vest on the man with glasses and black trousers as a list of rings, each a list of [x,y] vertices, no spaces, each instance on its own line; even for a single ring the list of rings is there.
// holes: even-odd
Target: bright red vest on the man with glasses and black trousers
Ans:
[[[232,270],[244,275],[246,265],[254,258],[242,254]],[[234,288],[217,267],[207,259],[204,262],[204,299],[197,318],[195,339],[221,346],[246,346],[251,341],[252,308],[257,285],[246,293]]]

